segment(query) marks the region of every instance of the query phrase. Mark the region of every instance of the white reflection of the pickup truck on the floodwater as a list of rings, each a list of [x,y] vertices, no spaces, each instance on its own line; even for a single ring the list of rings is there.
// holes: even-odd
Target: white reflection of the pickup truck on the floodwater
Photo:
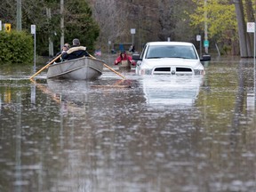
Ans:
[[[203,76],[145,76],[141,81],[148,104],[184,107],[194,104]]]

